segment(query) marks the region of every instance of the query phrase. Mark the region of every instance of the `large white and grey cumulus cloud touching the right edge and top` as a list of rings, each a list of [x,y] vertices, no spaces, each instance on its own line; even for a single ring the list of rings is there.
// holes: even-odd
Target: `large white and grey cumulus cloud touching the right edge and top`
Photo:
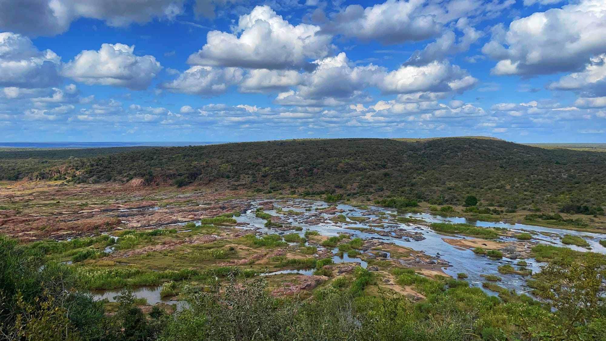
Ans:
[[[581,0],[498,27],[482,52],[498,60],[495,75],[570,72],[606,52],[605,27],[606,1]]]

